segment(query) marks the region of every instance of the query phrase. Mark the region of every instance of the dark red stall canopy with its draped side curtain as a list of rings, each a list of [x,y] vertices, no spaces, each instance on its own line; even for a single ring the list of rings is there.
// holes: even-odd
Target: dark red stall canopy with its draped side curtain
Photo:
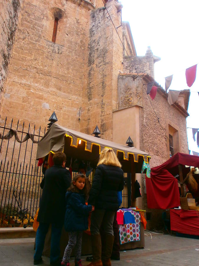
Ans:
[[[185,178],[190,167],[199,167],[199,156],[176,153],[165,163],[151,168],[151,178],[146,177],[147,205],[152,209],[170,209],[180,205],[177,179],[178,165]]]

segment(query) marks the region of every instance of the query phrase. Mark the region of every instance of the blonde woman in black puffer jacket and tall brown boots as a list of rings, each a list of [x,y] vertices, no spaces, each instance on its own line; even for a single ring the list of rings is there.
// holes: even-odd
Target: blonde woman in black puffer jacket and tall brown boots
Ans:
[[[99,158],[88,204],[95,206],[91,214],[91,242],[93,261],[90,266],[111,265],[111,252],[114,242],[113,220],[118,210],[117,192],[124,188],[124,172],[116,154],[111,148],[105,148]],[[101,256],[100,227],[105,233],[105,247]]]

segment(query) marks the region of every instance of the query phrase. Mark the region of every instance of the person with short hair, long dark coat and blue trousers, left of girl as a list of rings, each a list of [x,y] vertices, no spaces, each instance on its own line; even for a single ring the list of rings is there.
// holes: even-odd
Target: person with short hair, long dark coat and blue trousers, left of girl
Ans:
[[[40,223],[35,241],[34,265],[42,263],[45,237],[52,225],[50,264],[60,265],[60,237],[65,215],[65,193],[71,184],[70,172],[65,169],[66,155],[53,155],[54,166],[45,172],[37,221]]]

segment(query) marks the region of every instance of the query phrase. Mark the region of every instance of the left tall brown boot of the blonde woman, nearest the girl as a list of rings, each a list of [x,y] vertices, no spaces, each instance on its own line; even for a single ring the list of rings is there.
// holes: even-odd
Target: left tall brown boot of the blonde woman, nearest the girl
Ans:
[[[103,266],[101,261],[101,236],[98,235],[91,235],[91,244],[92,244],[92,252],[93,252],[93,261],[88,264],[87,266]]]

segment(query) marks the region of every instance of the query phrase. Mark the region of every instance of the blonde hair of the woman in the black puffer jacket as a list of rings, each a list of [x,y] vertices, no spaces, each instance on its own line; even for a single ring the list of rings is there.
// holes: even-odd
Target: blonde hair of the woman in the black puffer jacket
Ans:
[[[118,166],[121,168],[121,163],[119,162],[116,154],[114,153],[114,150],[110,148],[104,148],[101,152],[97,166],[100,164]]]

